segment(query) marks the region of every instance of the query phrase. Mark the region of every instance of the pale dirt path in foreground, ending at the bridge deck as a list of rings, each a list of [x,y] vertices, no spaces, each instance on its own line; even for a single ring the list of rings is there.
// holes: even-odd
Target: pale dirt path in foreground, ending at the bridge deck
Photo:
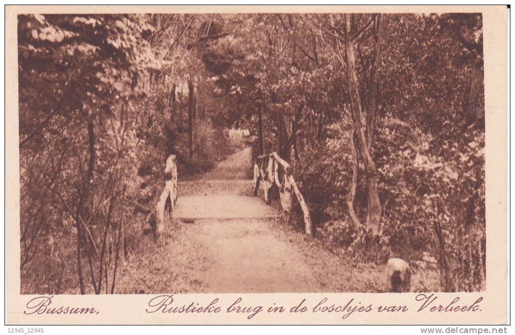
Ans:
[[[319,290],[302,254],[274,236],[266,220],[205,220],[183,233],[209,255],[208,266],[199,273],[205,292]]]

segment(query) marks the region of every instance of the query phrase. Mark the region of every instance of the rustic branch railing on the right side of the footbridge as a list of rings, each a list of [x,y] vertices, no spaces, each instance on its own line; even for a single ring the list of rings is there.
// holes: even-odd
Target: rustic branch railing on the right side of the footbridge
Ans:
[[[268,161],[267,161],[268,159]],[[302,193],[291,174],[290,165],[283,160],[277,152],[258,156],[254,163],[254,180],[252,190],[254,197],[258,196],[259,186],[263,182],[263,191],[265,193],[265,202],[270,204],[270,191],[273,185],[279,188],[281,197],[281,207],[283,213],[289,214],[291,211],[291,199],[293,198],[291,190],[293,189],[297,200],[299,201],[302,213],[304,214],[304,226],[307,235],[313,235],[313,224],[311,223],[310,210],[304,201]]]

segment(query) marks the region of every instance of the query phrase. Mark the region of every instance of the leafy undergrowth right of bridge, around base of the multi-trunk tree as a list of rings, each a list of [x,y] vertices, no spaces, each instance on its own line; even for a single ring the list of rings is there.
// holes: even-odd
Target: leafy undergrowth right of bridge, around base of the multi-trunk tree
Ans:
[[[449,140],[437,147],[430,135],[407,122],[385,118],[375,139],[382,235],[373,238],[348,218],[348,127],[345,122],[333,127],[324,144],[306,150],[296,162],[296,179],[318,237],[358,259],[380,263],[392,256],[419,261],[433,255],[443,289],[484,288],[484,134],[471,131],[464,146]],[[366,192],[364,185],[358,188]],[[363,217],[366,199],[355,203]]]

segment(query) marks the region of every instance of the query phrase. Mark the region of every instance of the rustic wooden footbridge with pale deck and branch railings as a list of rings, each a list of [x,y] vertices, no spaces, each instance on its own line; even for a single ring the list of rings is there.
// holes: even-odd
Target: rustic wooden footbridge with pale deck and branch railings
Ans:
[[[291,172],[290,165],[284,161],[277,152],[257,157],[254,162],[254,178],[252,181],[253,196],[258,197],[259,188],[262,186],[265,204],[270,205],[271,190],[273,187],[277,187],[280,195],[282,214],[286,217],[290,214],[292,201],[298,201],[304,216],[305,232],[307,235],[312,236],[313,224],[311,222],[310,211]],[[165,187],[156,206],[157,236],[165,231],[167,208],[169,208],[169,216],[183,222],[194,222],[195,220],[206,219],[228,220],[279,217],[279,213],[277,213],[276,210],[270,206],[266,206],[262,201],[231,192],[218,193],[216,197],[210,197],[207,194],[181,197],[181,201],[177,206],[179,189],[175,155],[170,155],[166,160],[164,177],[166,180]],[[214,184],[217,182],[227,183],[227,181],[224,180],[207,180],[205,182]],[[247,183],[247,181],[242,182]]]

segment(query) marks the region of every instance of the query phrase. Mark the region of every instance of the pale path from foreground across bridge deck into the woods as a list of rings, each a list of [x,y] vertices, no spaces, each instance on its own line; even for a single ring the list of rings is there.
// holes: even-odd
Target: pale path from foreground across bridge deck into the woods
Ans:
[[[183,238],[201,245],[207,266],[198,276],[211,292],[301,292],[316,280],[291,243],[271,232],[278,212],[251,196],[250,148],[218,163],[199,180],[179,184],[174,218]]]

